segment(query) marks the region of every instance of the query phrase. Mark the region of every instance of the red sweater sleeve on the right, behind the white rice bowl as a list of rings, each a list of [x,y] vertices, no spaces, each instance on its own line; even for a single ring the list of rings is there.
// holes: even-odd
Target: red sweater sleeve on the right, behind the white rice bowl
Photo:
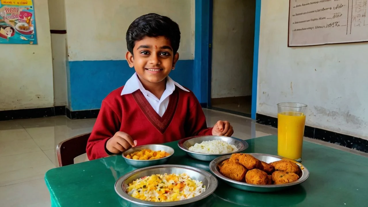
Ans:
[[[213,127],[207,127],[205,114],[197,98],[195,98],[195,104],[188,112],[186,126],[187,137],[212,135]]]

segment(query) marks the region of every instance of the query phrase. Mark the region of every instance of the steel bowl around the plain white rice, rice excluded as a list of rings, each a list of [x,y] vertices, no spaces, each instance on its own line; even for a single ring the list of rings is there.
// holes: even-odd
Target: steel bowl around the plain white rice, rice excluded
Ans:
[[[212,140],[223,140],[226,141],[229,144],[235,145],[238,150],[230,153],[224,153],[224,154],[205,154],[205,153],[199,153],[199,152],[192,152],[189,150],[191,146],[193,146],[195,143],[202,143],[202,141],[212,141]],[[178,146],[180,149],[187,152],[187,154],[194,158],[199,159],[202,161],[212,161],[213,159],[223,156],[223,155],[229,155],[233,153],[239,153],[248,148],[248,143],[244,140],[234,138],[234,137],[224,137],[224,136],[198,136],[198,137],[189,137],[185,138],[179,141]]]

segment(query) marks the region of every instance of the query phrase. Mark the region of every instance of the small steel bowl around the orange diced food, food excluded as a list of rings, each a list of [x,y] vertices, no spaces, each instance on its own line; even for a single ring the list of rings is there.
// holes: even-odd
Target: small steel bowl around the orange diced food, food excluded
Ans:
[[[161,159],[152,159],[152,160],[137,160],[137,159],[128,159],[126,156],[128,154],[131,154],[133,152],[136,151],[141,151],[144,149],[149,149],[152,151],[165,151],[167,153],[169,153],[170,155]],[[162,145],[162,144],[147,144],[147,145],[142,145],[139,147],[133,147],[130,148],[129,150],[125,151],[123,153],[123,157],[125,159],[125,162],[127,162],[128,165],[131,165],[135,168],[145,168],[145,167],[149,167],[149,166],[153,166],[153,165],[163,165],[166,164],[167,161],[169,161],[171,155],[174,154],[174,149],[166,146],[166,145]]]

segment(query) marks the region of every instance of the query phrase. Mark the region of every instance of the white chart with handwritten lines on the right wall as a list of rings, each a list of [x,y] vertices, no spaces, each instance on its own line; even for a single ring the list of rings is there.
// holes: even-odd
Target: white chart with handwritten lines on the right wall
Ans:
[[[368,0],[290,0],[288,46],[368,41]]]

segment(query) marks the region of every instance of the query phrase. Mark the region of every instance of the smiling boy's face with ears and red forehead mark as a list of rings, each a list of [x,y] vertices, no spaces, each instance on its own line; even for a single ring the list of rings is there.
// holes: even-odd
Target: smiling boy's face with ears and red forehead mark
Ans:
[[[133,54],[127,52],[126,59],[142,82],[160,83],[174,69],[179,53],[174,55],[170,40],[164,36],[145,37],[135,43]]]

